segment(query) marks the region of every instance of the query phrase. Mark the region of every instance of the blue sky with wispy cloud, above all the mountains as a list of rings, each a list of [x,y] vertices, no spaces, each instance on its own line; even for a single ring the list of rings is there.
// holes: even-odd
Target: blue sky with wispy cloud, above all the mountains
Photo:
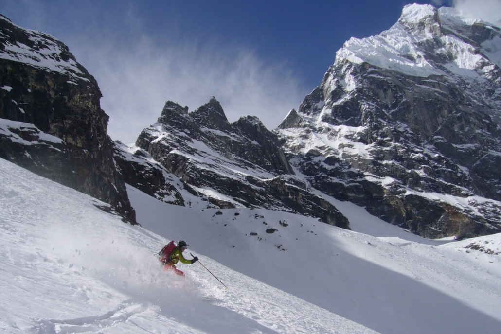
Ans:
[[[408,3],[0,0],[0,13],[69,46],[100,85],[109,134],[129,143],[166,100],[192,111],[215,96],[229,121],[252,114],[274,129],[345,41],[390,28]]]

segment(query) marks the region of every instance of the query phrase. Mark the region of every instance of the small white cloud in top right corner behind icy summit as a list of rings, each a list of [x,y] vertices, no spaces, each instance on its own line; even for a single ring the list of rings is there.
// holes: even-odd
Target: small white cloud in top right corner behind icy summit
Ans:
[[[454,8],[467,18],[501,27],[501,0],[454,0]]]

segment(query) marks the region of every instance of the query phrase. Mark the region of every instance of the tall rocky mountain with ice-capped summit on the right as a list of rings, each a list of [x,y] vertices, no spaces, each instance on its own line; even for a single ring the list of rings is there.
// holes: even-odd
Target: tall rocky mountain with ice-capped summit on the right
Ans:
[[[501,229],[501,35],[408,5],[352,38],[275,133],[311,186],[419,235]]]

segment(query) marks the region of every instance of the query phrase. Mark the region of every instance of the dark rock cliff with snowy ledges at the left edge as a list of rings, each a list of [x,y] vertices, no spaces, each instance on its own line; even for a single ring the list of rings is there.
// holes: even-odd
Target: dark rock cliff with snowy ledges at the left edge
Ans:
[[[61,42],[0,17],[0,157],[135,223],[95,79]]]

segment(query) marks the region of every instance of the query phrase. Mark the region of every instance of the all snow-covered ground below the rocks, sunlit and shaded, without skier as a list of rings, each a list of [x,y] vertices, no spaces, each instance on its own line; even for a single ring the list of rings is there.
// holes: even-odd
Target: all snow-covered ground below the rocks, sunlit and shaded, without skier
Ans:
[[[280,211],[166,204],[129,187],[144,228],[3,159],[0,184],[2,332],[501,330],[499,255],[464,248],[499,251],[499,234],[439,245],[371,221],[388,236],[378,238]],[[363,208],[345,209],[365,228]],[[184,280],[162,272],[165,236],[186,240],[228,289],[197,263],[181,265]]]

